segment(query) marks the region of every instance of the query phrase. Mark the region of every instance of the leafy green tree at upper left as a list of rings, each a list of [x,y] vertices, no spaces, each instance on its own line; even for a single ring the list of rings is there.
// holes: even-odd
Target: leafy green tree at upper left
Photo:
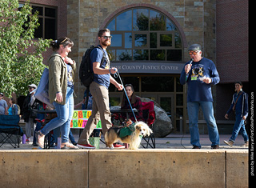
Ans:
[[[42,71],[42,52],[50,41],[34,38],[39,26],[38,13],[32,14],[29,2],[19,7],[18,0],[0,2],[0,91],[26,94],[27,86],[38,84]]]

